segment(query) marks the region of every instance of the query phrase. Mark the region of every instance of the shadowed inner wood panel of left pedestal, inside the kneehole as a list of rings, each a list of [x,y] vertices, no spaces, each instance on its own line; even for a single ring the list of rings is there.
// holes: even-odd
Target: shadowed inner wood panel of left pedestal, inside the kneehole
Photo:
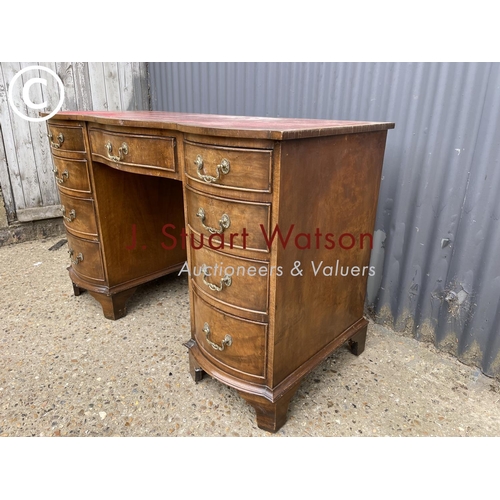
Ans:
[[[180,269],[186,260],[182,184],[95,161],[92,173],[108,286]]]

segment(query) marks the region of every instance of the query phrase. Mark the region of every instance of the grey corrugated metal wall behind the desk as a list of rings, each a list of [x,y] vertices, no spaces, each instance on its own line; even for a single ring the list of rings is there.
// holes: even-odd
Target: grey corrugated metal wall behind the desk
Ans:
[[[155,110],[393,121],[368,306],[500,375],[500,63],[151,63]]]

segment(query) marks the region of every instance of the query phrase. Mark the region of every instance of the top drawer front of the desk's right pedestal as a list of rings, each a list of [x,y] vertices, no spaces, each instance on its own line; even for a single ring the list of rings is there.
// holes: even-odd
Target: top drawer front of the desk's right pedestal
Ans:
[[[207,146],[184,142],[185,172],[193,185],[241,191],[271,191],[271,150]]]

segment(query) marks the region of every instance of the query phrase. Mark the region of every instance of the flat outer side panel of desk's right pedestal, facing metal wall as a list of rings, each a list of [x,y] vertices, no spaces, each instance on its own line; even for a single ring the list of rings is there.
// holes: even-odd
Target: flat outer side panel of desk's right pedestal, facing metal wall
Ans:
[[[311,244],[304,248],[300,236],[275,247],[284,269],[276,279],[275,384],[363,317],[371,245],[362,235],[373,234],[385,138],[382,131],[282,144],[279,224],[293,225],[294,237],[310,234]],[[353,238],[353,248],[341,248]],[[293,276],[296,263],[302,275]]]

